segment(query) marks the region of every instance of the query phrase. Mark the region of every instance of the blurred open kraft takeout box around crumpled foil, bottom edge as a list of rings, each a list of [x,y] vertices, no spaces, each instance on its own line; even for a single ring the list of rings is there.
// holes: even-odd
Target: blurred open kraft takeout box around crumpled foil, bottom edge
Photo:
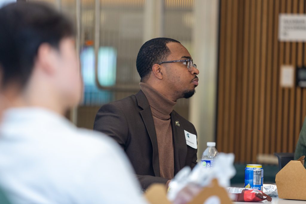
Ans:
[[[166,196],[166,187],[163,184],[153,184],[148,188],[145,196],[151,204],[171,204]],[[220,204],[232,203],[227,191],[218,185],[216,179],[212,180],[209,187],[203,188],[198,195],[196,195],[188,204],[203,204],[207,198],[211,196],[217,196],[220,200]]]

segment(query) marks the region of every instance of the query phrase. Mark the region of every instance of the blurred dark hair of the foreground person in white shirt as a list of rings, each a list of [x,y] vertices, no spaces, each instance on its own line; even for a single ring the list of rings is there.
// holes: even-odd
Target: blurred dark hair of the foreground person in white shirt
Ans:
[[[24,86],[30,78],[39,46],[57,48],[65,37],[74,36],[71,22],[41,3],[17,2],[0,9],[0,69],[2,84]]]

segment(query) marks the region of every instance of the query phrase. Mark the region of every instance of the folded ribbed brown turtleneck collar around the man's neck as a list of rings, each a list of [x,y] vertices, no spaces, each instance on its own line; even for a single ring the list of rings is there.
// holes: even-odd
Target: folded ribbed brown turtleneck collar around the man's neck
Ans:
[[[140,89],[147,97],[152,115],[162,120],[169,119],[170,113],[173,111],[173,107],[177,102],[166,98],[166,96],[146,83],[140,82],[139,85]]]

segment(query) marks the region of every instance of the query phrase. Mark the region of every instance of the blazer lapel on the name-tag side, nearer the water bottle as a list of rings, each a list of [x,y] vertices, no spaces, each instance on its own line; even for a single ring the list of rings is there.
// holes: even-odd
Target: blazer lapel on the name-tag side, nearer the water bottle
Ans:
[[[187,145],[184,127],[175,125],[175,113],[170,114],[174,147],[174,175],[185,166]]]

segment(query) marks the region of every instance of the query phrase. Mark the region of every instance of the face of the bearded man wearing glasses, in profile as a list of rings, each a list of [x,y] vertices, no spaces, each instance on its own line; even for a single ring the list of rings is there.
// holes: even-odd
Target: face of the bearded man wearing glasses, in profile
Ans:
[[[166,61],[191,59],[188,50],[181,44],[171,42],[167,44],[171,54],[167,57]],[[188,62],[187,62],[188,64]],[[198,85],[199,70],[192,67],[191,71],[188,71],[186,62],[172,62],[163,63],[161,66],[165,67],[164,76],[166,88],[174,91],[177,98],[189,98],[195,93],[195,88]]]

